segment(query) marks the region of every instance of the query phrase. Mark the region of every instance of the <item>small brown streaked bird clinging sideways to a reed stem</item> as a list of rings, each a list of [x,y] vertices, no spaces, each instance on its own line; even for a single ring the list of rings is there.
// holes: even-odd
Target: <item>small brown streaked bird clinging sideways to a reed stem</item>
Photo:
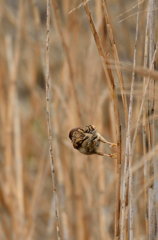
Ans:
[[[73,147],[85,155],[98,154],[116,158],[116,153],[105,154],[98,151],[100,143],[107,143],[110,147],[117,146],[115,143],[106,141],[98,132],[94,125],[85,128],[73,128],[69,133],[69,138],[73,143]]]

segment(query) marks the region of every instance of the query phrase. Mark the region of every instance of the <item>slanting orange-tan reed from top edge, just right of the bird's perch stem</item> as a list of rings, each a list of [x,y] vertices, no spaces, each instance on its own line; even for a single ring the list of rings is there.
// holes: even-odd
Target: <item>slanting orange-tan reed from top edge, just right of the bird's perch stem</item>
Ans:
[[[103,5],[104,17],[106,20],[107,30],[109,33],[110,44],[111,44],[112,51],[113,51],[113,57],[114,57],[114,60],[116,63],[116,71],[117,71],[117,76],[118,76],[118,80],[120,83],[120,89],[121,89],[121,95],[122,95],[122,101],[123,101],[123,107],[124,107],[124,115],[125,115],[125,124],[126,124],[126,128],[127,128],[128,106],[127,106],[127,99],[126,99],[126,94],[125,94],[125,86],[124,86],[123,76],[122,76],[122,72],[121,72],[121,69],[119,66],[119,57],[118,57],[117,47],[115,44],[115,39],[114,39],[114,35],[113,35],[111,23],[110,23],[107,6],[105,4],[105,0],[102,0],[102,5]]]

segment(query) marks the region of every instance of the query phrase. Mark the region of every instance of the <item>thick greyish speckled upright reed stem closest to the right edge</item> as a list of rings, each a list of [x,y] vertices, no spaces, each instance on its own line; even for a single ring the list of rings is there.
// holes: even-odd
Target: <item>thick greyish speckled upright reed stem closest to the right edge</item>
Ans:
[[[149,1],[149,67],[154,68],[154,63],[152,62],[154,54],[154,44],[155,44],[155,8],[156,1]],[[155,80],[150,79],[149,82],[149,99],[148,99],[148,115],[154,115],[155,112]],[[149,121],[149,136],[148,143],[149,149],[154,147],[154,118]],[[151,159],[149,165],[149,176],[150,178],[154,177],[154,159]],[[149,187],[149,239],[154,240],[156,236],[156,209],[155,209],[155,191],[154,191],[154,181],[150,184]]]

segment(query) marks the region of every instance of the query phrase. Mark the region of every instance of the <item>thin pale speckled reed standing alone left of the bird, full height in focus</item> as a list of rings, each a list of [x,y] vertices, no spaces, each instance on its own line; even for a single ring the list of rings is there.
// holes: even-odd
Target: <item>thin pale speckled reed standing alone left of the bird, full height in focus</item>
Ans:
[[[58,214],[58,198],[56,192],[56,179],[54,169],[54,158],[52,148],[52,136],[51,136],[51,120],[50,120],[50,103],[49,103],[49,29],[50,29],[50,0],[47,0],[47,19],[46,19],[46,111],[47,111],[47,128],[48,128],[48,141],[49,141],[49,154],[53,183],[53,194],[55,198],[55,214],[57,223],[57,236],[58,240],[61,239],[61,230],[59,226],[59,214]]]

